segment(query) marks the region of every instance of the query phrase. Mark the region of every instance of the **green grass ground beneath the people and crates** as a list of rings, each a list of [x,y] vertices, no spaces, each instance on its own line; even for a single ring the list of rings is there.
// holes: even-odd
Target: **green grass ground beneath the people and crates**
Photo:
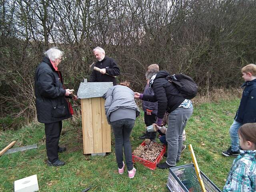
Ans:
[[[200,170],[222,190],[234,158],[225,158],[221,151],[230,145],[229,127],[239,105],[239,99],[221,100],[194,106],[194,113],[186,126],[186,142],[192,144]],[[166,192],[168,170],[145,168],[135,164],[137,173],[129,179],[126,172],[118,174],[112,135],[112,153],[102,156],[83,155],[82,123],[64,120],[60,146],[68,150],[59,155],[66,162],[62,167],[46,165],[44,124],[31,124],[19,130],[0,132],[0,149],[11,141],[13,146],[38,144],[37,149],[4,154],[0,157],[0,191],[12,192],[14,181],[37,174],[40,192],[80,192],[92,186],[90,191],[102,192]],[[143,116],[136,120],[131,142],[134,150],[142,140]],[[166,158],[162,160],[164,162]],[[177,165],[190,164],[192,158],[188,148],[182,153]]]

